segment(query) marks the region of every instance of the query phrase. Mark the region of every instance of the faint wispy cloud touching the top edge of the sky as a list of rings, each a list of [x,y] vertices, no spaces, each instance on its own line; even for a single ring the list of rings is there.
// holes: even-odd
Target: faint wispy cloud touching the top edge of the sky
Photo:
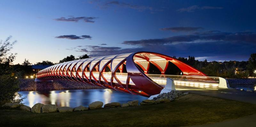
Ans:
[[[157,11],[163,11],[162,9],[156,9],[153,7],[149,6],[143,6],[143,5],[135,5],[135,4],[129,4],[125,2],[119,2],[119,1],[100,1],[100,0],[94,0],[90,1],[90,4],[96,3],[97,6],[100,8],[109,8],[111,6],[118,6],[118,7],[123,7],[123,8],[130,8],[134,10],[138,10],[140,12],[149,10],[151,13],[157,12]]]

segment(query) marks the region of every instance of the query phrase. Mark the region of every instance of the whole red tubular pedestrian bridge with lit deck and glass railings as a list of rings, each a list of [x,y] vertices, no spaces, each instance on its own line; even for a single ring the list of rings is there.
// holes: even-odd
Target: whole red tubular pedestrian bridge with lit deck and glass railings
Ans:
[[[172,57],[154,52],[135,52],[68,61],[47,67],[38,81],[69,80],[150,97],[166,85],[228,88],[221,77],[203,72]]]

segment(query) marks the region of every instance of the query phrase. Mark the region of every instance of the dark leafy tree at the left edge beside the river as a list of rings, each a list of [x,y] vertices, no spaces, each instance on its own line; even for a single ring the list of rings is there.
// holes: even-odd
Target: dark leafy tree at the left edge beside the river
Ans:
[[[11,38],[12,36],[9,36],[5,41],[0,41],[0,105],[22,101],[22,99],[15,99],[21,95],[17,93],[20,89],[20,82],[15,78],[16,73],[12,66],[16,54],[9,52],[17,41],[10,42]]]

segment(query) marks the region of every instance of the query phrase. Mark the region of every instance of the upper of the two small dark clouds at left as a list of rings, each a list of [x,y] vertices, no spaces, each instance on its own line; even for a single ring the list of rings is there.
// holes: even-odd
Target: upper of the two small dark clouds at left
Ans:
[[[70,18],[65,18],[65,17],[60,17],[58,19],[54,19],[56,21],[68,21],[68,22],[78,22],[79,20],[83,20],[84,22],[90,22],[90,23],[94,23],[94,19],[96,19],[96,17],[73,17],[70,16]]]

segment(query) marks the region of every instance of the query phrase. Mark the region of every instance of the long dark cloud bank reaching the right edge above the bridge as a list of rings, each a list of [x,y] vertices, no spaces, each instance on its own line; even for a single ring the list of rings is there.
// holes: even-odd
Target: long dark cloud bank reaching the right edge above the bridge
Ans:
[[[124,41],[122,44],[127,45],[166,45],[166,44],[177,44],[177,43],[192,43],[192,42],[247,42],[256,44],[256,33],[253,32],[238,32],[238,33],[227,33],[220,31],[203,31],[196,32],[190,35],[171,36],[161,39],[142,39],[135,41]]]

